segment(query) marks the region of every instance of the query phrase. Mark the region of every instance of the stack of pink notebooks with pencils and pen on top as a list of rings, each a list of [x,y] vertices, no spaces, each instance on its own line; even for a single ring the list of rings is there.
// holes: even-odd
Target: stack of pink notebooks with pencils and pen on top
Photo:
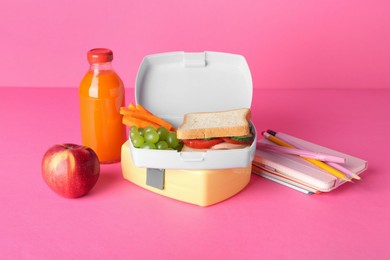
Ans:
[[[257,142],[253,173],[313,194],[360,180],[367,161],[284,133],[268,130]]]

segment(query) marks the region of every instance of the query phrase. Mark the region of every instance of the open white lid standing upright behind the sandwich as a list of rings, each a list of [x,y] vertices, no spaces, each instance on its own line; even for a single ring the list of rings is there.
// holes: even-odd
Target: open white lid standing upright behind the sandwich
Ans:
[[[138,70],[135,100],[177,127],[189,112],[249,108],[252,77],[245,58],[237,54],[154,54]]]

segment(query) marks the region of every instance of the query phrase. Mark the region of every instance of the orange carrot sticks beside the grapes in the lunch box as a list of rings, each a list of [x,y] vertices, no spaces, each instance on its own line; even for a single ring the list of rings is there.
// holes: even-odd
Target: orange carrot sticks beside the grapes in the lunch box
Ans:
[[[147,126],[155,129],[160,126],[173,131],[173,126],[162,118],[154,115],[140,104],[130,104],[128,107],[121,107],[120,114],[123,115],[122,123],[127,126],[136,126],[145,128]]]

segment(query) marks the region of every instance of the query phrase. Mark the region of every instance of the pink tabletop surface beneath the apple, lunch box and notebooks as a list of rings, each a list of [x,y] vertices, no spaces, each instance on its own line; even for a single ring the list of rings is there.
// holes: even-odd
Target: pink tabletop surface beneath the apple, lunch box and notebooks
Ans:
[[[202,208],[142,189],[103,165],[86,197],[41,178],[43,153],[80,142],[77,90],[0,88],[1,259],[389,259],[389,90],[260,90],[259,131],[272,128],[368,160],[363,180],[305,195],[253,175]],[[127,89],[127,103],[133,89]]]

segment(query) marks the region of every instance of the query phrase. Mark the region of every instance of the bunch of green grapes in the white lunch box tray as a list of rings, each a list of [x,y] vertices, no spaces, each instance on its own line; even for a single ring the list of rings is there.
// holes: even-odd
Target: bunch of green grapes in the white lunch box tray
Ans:
[[[130,128],[130,140],[133,146],[141,149],[180,150],[182,142],[177,139],[176,132],[170,132],[163,126],[157,130],[153,126]]]

